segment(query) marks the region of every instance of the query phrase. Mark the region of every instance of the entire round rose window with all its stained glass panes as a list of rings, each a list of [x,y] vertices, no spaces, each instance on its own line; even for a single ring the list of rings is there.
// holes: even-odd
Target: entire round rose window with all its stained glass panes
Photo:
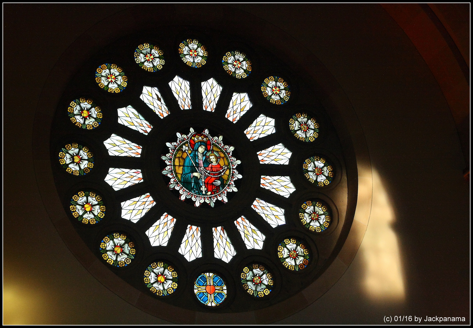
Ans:
[[[310,79],[239,40],[140,40],[94,56],[56,111],[77,233],[149,302],[245,312],[295,295],[346,223],[342,146]]]

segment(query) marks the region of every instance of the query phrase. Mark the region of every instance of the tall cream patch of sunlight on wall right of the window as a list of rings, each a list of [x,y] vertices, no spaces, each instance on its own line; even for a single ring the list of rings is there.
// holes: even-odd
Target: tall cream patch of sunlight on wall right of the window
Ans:
[[[363,287],[377,301],[403,301],[401,254],[392,228],[394,210],[379,173],[373,169],[373,200],[368,228],[360,245],[366,264]]]

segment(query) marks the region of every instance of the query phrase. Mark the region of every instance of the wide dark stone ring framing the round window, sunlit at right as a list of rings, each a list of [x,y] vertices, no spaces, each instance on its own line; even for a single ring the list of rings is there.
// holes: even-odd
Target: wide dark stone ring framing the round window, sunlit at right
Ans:
[[[169,26],[172,25],[173,22],[177,21],[178,15],[176,13],[178,12],[178,5],[159,6],[160,9],[163,9],[164,7],[170,13],[166,19],[160,21],[162,25]],[[186,6],[189,7],[189,5]],[[191,7],[193,7],[193,5],[191,5]],[[209,8],[206,9],[212,10],[210,7],[216,9],[213,11],[213,15],[220,15],[220,19],[236,22],[237,15],[235,15],[235,17],[224,15],[222,8],[225,6],[209,6]],[[120,33],[118,34],[115,31],[114,35],[125,35],[133,31],[141,30],[144,26],[146,27],[149,24],[149,17],[142,18],[143,21],[140,23],[143,23],[143,25],[139,24],[139,19],[137,18],[142,17],[138,15],[138,13],[143,12],[142,9],[142,6],[137,6],[121,12],[118,15],[121,16],[121,19],[124,19],[124,21],[131,21],[131,18],[133,18],[135,25],[123,26],[123,30],[119,31]],[[199,26],[199,17],[202,18],[204,15],[208,14],[208,12],[207,10],[196,6],[195,14],[196,15],[193,17],[195,21],[192,23],[195,24],[194,26]],[[248,15],[247,13],[242,12],[240,12],[240,14]],[[148,21],[148,23],[146,23],[146,21]],[[254,25],[254,30],[258,30],[258,28],[261,30],[261,27],[267,25],[266,22],[261,21],[257,17],[254,17],[252,24]],[[209,23],[206,27],[217,28],[218,26],[212,26],[212,23]],[[94,30],[94,28],[92,28],[79,37],[79,39],[70,46],[68,51],[72,48],[77,49],[78,44],[83,44],[84,41],[88,40],[87,43],[89,43],[90,48],[87,47],[86,49],[90,49],[91,52],[94,52],[96,48],[101,47],[101,43],[105,40],[107,43],[113,40],[115,38],[114,35],[98,32],[96,29]],[[263,45],[271,42],[275,44],[275,40],[271,39],[272,37],[270,35],[248,35],[249,41]],[[281,42],[281,40],[284,42]],[[53,68],[39,102],[39,104],[42,104],[42,111],[39,112],[38,110],[35,116],[35,122],[41,121],[42,124],[35,124],[34,131],[35,171],[38,184],[42,187],[39,189],[45,207],[47,208],[48,214],[64,242],[66,242],[72,253],[79,259],[84,267],[114,293],[117,293],[124,300],[137,306],[143,311],[156,315],[155,309],[159,307],[161,309],[160,312],[163,313],[163,315],[160,315],[161,319],[179,323],[213,323],[219,322],[222,319],[225,319],[225,322],[227,323],[233,320],[240,323],[273,322],[300,311],[325,293],[338,280],[338,278],[342,276],[343,272],[356,254],[368,223],[369,205],[371,200],[371,169],[364,136],[353,109],[346,97],[343,96],[340,86],[336,84],[329,72],[315,59],[313,63],[307,64],[304,58],[308,58],[308,52],[298,46],[289,35],[284,34],[282,31],[280,32],[278,43],[285,44],[285,47],[276,46],[276,48],[278,48],[278,52],[284,53],[286,58],[288,58],[288,61],[292,63],[292,65],[289,65],[290,68],[294,69],[296,72],[302,69],[305,74],[308,74],[314,79],[315,85],[318,86],[315,88],[318,90],[315,93],[315,98],[320,101],[324,110],[334,122],[333,125],[342,143],[344,150],[343,156],[347,163],[347,172],[344,172],[344,174],[350,177],[350,180],[344,181],[344,183],[346,183],[346,189],[348,190],[348,198],[347,195],[344,197],[347,202],[347,210],[345,213],[341,213],[340,216],[343,215],[344,218],[352,218],[353,221],[351,222],[350,219],[347,220],[350,221],[350,225],[343,227],[343,234],[346,238],[341,238],[343,242],[335,245],[335,250],[333,251],[331,258],[327,259],[326,269],[318,279],[304,290],[285,301],[273,304],[264,309],[251,311],[251,313],[200,314],[198,311],[185,310],[160,302],[151,298],[149,295],[136,290],[121,278],[114,275],[111,270],[106,268],[105,265],[93,255],[86,244],[82,242],[75,232],[68,215],[65,213],[61,205],[61,198],[54,186],[53,172],[51,170],[52,163],[49,156],[49,145],[50,129],[53,121],[54,110],[59,104],[62,90],[64,89],[67,80],[70,79],[72,73],[76,70],[76,67],[80,65],[81,62],[84,62],[87,57],[90,57],[91,54],[84,49],[82,52],[77,53],[75,58],[70,58],[70,55],[68,55],[68,62],[70,62],[70,65],[68,66],[69,70],[64,70],[62,67],[60,68],[59,64]],[[288,52],[289,49],[298,49],[298,52]],[[68,51],[66,51],[62,57],[65,57]],[[59,62],[61,62],[61,60],[59,60]],[[291,86],[293,93],[295,93],[294,91],[297,89],[301,89],[300,86]],[[46,108],[46,110],[44,110],[44,108]],[[274,110],[277,111],[278,109],[275,108]],[[42,159],[38,160],[37,158]],[[99,162],[99,160],[97,159],[96,162]],[[359,187],[362,188],[360,189]],[[330,198],[335,202],[340,201],[339,198],[337,199],[336,194],[330,195]],[[290,306],[288,306],[289,304]],[[163,309],[169,311],[162,311]],[[285,311],[281,311],[282,309]],[[287,311],[287,309],[291,310]],[[175,315],[169,315],[166,314],[166,312],[174,313]]]

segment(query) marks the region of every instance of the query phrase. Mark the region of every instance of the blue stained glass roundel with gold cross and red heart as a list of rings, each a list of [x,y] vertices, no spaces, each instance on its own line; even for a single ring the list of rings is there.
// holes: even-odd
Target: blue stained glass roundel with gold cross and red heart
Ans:
[[[217,306],[227,298],[227,285],[220,276],[206,272],[195,279],[194,293],[202,304]]]

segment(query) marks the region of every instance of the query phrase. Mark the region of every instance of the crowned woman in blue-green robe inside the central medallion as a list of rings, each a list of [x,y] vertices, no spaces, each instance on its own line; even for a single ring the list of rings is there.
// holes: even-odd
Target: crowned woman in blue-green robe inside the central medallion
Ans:
[[[184,160],[183,172],[181,175],[181,183],[183,187],[194,194],[206,195],[203,176],[204,167],[210,165],[210,162],[204,155],[208,143],[204,141],[197,141],[193,147],[193,151]],[[191,145],[192,146],[192,145]]]

